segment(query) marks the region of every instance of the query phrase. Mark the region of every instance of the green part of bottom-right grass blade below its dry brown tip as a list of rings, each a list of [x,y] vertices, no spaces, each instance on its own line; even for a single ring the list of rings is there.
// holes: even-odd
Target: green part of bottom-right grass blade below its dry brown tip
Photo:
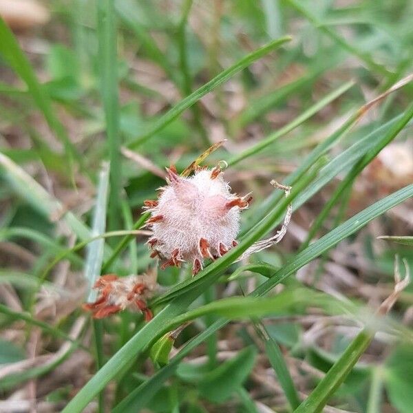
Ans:
[[[295,413],[317,413],[321,412],[328,399],[335,393],[337,388],[348,373],[357,363],[363,352],[372,341],[374,333],[363,330],[346,348],[341,357],[328,370],[326,376],[320,381],[319,385],[310,393],[310,396],[294,410]]]

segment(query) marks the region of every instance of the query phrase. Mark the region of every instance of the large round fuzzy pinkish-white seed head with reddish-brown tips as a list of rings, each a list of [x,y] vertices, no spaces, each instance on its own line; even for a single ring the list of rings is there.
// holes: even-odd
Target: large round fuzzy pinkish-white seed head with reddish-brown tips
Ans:
[[[184,178],[171,167],[158,200],[145,201],[151,212],[151,256],[165,259],[162,268],[191,262],[195,275],[205,258],[214,260],[237,245],[240,211],[252,198],[231,193],[222,175],[220,167],[198,167]]]

